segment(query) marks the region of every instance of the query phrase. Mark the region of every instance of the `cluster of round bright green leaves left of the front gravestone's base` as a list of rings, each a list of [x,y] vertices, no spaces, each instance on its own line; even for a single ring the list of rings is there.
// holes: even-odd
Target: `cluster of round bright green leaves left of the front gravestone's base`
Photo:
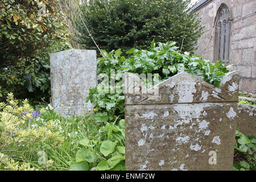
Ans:
[[[125,170],[125,120],[121,119],[118,125],[115,122],[104,123],[98,135],[79,141],[81,148],[70,170]]]

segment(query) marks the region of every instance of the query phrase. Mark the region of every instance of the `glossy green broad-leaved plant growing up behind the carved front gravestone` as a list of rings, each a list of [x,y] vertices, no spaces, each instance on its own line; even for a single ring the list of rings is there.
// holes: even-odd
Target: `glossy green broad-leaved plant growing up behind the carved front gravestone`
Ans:
[[[130,49],[126,52],[129,55],[127,57],[122,56],[121,49],[110,53],[102,51],[104,57],[98,58],[98,77],[105,73],[110,78],[112,69],[115,69],[115,75],[124,72],[158,73],[160,80],[165,80],[181,71],[187,71],[218,87],[222,77],[229,72],[222,61],[210,63],[197,55],[181,53],[177,48],[175,42],[158,43],[158,46],[152,42],[148,50]],[[117,88],[122,87],[121,81],[122,78],[115,82]],[[109,91],[110,89],[112,88],[109,88]],[[105,92],[101,89],[101,85],[98,85],[90,89],[87,101],[89,100],[97,110],[106,111],[109,116],[121,114],[123,118],[124,96],[122,93]]]

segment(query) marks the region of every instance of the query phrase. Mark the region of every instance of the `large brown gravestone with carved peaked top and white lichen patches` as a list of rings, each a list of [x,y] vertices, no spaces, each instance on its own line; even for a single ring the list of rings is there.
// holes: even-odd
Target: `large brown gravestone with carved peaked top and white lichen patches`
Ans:
[[[126,93],[127,170],[232,170],[239,81],[230,72],[216,88],[181,72],[156,85],[158,96]],[[138,83],[128,85],[144,90]]]

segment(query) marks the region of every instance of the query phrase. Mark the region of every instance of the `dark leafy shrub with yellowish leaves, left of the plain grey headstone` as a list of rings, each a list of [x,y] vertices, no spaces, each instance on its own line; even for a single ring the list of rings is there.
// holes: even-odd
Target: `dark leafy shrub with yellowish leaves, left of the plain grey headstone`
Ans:
[[[68,28],[55,7],[50,0],[0,2],[0,101],[9,92],[49,98],[48,53],[68,48]]]

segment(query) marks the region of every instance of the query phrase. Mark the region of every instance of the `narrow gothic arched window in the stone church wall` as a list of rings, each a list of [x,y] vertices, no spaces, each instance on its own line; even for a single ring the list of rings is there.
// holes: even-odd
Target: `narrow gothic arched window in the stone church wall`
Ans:
[[[218,60],[229,60],[230,13],[228,6],[222,5],[217,15],[216,53]]]

